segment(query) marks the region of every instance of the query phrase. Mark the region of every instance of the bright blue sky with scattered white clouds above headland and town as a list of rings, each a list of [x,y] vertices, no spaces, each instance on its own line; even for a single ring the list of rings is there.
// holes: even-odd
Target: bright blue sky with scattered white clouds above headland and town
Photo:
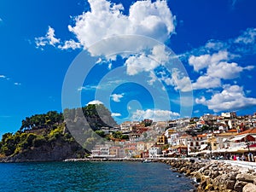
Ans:
[[[118,122],[252,114],[255,8],[253,0],[1,1],[0,135],[26,116],[61,112],[76,65],[84,81],[70,94],[103,102]]]

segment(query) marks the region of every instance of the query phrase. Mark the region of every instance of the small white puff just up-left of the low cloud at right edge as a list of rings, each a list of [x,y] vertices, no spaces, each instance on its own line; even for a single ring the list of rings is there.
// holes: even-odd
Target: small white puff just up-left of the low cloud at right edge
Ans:
[[[218,78],[210,76],[201,76],[195,83],[192,84],[194,90],[216,88],[221,86],[221,81]]]

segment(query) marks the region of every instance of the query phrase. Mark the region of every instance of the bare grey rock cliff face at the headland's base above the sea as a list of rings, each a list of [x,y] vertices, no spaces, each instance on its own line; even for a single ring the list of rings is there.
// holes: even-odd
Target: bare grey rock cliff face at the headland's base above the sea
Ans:
[[[81,158],[85,154],[86,151],[78,143],[55,141],[55,143],[45,143],[38,148],[26,149],[19,154],[0,159],[0,162],[58,161]]]

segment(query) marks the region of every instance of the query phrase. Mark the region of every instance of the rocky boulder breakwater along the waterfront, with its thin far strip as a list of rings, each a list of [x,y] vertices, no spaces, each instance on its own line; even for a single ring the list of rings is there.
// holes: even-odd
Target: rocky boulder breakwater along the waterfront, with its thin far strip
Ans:
[[[82,161],[143,161],[144,159],[81,159]],[[78,161],[78,160],[67,160]],[[199,161],[192,159],[152,159],[171,166],[173,172],[194,178],[198,192],[256,192],[254,169],[232,166],[217,160]]]

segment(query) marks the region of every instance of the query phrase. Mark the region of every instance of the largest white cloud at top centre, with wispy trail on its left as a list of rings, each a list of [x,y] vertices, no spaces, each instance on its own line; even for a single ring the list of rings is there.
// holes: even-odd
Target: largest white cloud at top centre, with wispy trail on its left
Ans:
[[[123,14],[121,4],[110,3],[107,0],[89,0],[90,11],[74,17],[74,25],[67,26],[70,32],[78,39],[78,42],[70,39],[60,42],[55,38],[55,31],[49,26],[45,37],[35,38],[37,47],[44,47],[47,44],[58,45],[60,49],[76,49],[84,47],[92,55],[108,55],[112,49],[142,47],[141,42],[131,38],[123,44],[108,44],[108,46],[91,48],[92,44],[107,40],[115,36],[142,35],[154,38],[164,43],[174,32],[174,20],[171,10],[166,1],[157,0],[152,3],[150,0],[137,1],[129,9],[129,14]],[[137,46],[138,45],[138,46]],[[90,48],[90,49],[89,49]],[[156,50],[157,51],[157,50]]]

